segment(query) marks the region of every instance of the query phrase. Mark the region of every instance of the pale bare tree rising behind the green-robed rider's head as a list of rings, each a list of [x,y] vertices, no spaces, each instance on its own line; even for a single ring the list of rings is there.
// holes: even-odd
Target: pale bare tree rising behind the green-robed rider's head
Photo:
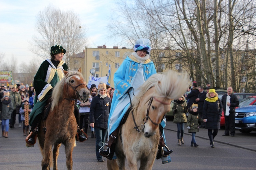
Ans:
[[[38,13],[35,29],[38,35],[33,37],[35,48],[31,51],[46,59],[49,58],[51,46],[59,44],[66,49],[65,62],[68,67],[70,57],[82,51],[87,41],[86,29],[81,26],[79,16],[51,5]]]

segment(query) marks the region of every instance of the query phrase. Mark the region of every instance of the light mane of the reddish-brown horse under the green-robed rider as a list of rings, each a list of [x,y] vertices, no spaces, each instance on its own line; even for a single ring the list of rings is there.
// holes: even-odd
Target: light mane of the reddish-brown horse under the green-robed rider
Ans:
[[[80,77],[83,77],[82,73],[78,71],[69,70],[68,73],[59,81],[54,89],[52,94],[52,106],[51,111],[53,111],[54,107],[56,107],[60,100],[63,99],[63,88],[65,84],[69,83],[69,80],[71,79],[72,75],[78,75]]]

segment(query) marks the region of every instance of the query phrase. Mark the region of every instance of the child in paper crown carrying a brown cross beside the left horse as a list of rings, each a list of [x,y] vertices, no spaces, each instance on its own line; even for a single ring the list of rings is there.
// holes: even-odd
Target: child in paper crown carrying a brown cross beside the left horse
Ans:
[[[31,112],[31,105],[28,103],[28,98],[24,98],[24,102],[21,104],[19,109],[19,114],[21,115],[20,120],[23,122],[23,135],[28,135],[29,124],[28,121],[30,119],[29,114]]]

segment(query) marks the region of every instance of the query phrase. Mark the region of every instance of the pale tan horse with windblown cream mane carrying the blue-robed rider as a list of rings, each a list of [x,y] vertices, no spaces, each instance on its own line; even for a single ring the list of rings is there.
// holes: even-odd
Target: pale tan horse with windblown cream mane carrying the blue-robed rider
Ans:
[[[132,109],[117,135],[116,157],[108,160],[108,169],[152,169],[160,138],[159,124],[171,109],[171,100],[184,94],[188,85],[185,75],[174,71],[153,74],[132,99]],[[140,126],[137,129],[134,126]],[[139,127],[139,128],[140,128]],[[142,132],[142,133],[140,133]],[[143,133],[144,132],[144,133]]]

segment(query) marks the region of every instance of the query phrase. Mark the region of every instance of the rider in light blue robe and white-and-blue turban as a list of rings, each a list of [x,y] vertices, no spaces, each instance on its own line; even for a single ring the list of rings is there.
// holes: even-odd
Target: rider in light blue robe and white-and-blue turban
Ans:
[[[136,45],[133,48],[135,52],[129,57],[126,57],[114,74],[115,91],[108,121],[108,135],[110,137],[108,143],[105,144],[108,146],[108,149],[100,150],[100,154],[110,160],[114,156],[115,138],[119,131],[120,122],[130,107],[129,96],[132,100],[133,94],[135,96],[138,94],[138,87],[140,87],[151,75],[156,73],[155,65],[149,59],[149,53],[151,51],[150,44],[149,39],[141,38],[137,40]],[[166,125],[165,122],[166,121],[161,122],[163,127]],[[165,157],[171,152],[172,151],[165,151]],[[167,162],[170,162],[170,160]]]

